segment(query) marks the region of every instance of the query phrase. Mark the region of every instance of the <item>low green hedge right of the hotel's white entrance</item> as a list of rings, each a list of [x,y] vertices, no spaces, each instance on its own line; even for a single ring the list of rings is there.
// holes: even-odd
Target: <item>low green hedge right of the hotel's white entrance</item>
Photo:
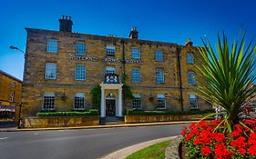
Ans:
[[[144,110],[127,110],[127,115],[166,115],[166,114],[173,114],[173,115],[179,115],[179,114],[209,114],[214,113],[213,110],[191,110],[191,111],[144,111]]]

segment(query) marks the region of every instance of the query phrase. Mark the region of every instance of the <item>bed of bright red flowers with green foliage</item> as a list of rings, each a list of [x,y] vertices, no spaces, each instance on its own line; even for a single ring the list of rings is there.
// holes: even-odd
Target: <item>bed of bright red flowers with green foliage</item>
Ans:
[[[245,125],[235,124],[231,133],[222,133],[222,120],[200,121],[184,127],[186,158],[189,159],[256,159],[256,119],[244,119]],[[217,128],[216,128],[217,127]]]

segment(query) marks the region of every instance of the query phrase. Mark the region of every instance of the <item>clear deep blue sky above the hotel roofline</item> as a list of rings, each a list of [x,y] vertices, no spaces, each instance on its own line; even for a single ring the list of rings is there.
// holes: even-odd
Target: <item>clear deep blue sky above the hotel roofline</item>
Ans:
[[[72,16],[78,33],[128,37],[137,26],[139,39],[184,45],[189,37],[202,45],[200,37],[215,43],[223,30],[233,38],[247,29],[249,41],[256,35],[255,6],[253,0],[2,0],[0,69],[22,79],[24,57],[9,45],[25,51],[24,28],[58,30],[61,15]]]

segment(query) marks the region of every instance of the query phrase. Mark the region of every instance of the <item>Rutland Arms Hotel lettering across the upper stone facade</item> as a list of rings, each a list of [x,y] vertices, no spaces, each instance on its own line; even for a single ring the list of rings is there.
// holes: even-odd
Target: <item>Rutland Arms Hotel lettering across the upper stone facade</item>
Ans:
[[[122,63],[123,60],[118,59],[118,58],[104,58],[104,59],[99,59],[97,57],[86,57],[86,56],[79,56],[79,55],[71,55],[70,56],[71,60],[82,60],[82,61],[100,61],[102,60],[104,63]],[[135,59],[127,59],[125,60],[125,63],[127,64],[141,64],[141,60],[135,60]]]

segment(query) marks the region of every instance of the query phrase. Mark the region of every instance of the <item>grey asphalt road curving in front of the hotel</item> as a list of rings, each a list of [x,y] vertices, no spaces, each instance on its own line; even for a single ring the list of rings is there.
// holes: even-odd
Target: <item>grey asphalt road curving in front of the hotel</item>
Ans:
[[[0,133],[1,159],[94,159],[129,145],[180,134],[183,125]]]

